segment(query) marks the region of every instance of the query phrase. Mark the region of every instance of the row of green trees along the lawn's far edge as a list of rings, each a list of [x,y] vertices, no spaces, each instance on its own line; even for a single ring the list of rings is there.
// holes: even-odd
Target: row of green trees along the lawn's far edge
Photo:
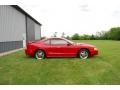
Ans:
[[[96,32],[95,35],[79,35],[75,33],[71,37],[67,36],[66,38],[72,40],[120,40],[120,27],[111,28],[109,31]]]

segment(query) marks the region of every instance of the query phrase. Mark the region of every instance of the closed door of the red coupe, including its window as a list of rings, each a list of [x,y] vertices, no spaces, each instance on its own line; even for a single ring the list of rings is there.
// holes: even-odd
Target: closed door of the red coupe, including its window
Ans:
[[[74,46],[63,39],[51,39],[51,54],[55,57],[73,57]]]

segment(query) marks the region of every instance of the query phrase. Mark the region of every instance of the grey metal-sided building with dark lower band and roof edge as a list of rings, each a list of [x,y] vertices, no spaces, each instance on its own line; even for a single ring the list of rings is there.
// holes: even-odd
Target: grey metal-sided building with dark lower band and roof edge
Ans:
[[[17,5],[0,5],[0,53],[41,38],[41,24]]]

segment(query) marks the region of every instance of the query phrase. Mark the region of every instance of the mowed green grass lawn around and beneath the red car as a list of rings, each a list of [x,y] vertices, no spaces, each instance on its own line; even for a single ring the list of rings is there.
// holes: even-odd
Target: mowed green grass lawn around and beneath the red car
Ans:
[[[36,60],[19,51],[0,57],[0,84],[120,84],[120,41],[76,41],[98,47],[99,55]]]

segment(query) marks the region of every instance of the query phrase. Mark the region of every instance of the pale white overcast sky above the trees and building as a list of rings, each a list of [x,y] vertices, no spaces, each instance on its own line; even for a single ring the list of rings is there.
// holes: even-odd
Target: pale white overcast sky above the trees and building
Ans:
[[[15,4],[42,23],[42,36],[95,34],[120,26],[120,0],[21,0]]]

